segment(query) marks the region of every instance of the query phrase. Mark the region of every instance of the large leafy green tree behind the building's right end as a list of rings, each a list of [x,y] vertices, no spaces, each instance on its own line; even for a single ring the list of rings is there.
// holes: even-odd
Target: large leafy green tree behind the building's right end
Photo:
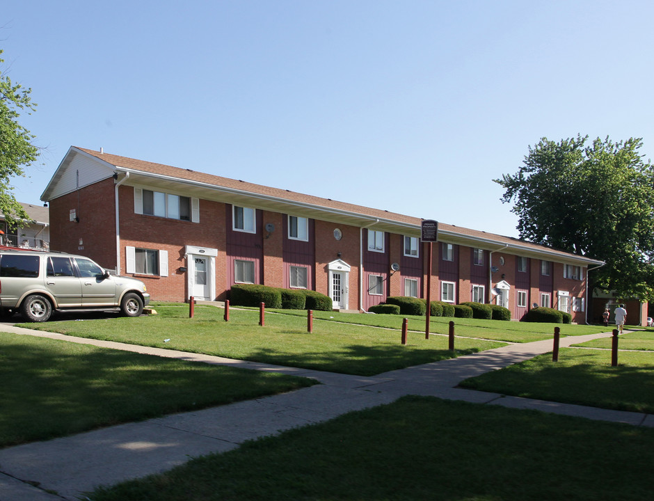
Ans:
[[[518,173],[493,180],[515,200],[520,238],[603,260],[589,287],[654,300],[654,169],[641,138],[577,135],[533,148]]]

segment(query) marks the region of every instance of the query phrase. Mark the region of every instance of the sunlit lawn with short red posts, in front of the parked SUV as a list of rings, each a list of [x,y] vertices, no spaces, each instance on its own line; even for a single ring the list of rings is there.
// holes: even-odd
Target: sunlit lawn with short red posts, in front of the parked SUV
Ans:
[[[138,318],[49,321],[22,326],[99,340],[361,376],[453,356],[444,336],[432,335],[425,340],[424,332],[410,333],[408,344],[402,345],[401,319],[398,328],[392,330],[316,319],[314,332],[310,334],[307,333],[306,312],[304,316],[268,312],[265,326],[260,327],[258,310],[232,309],[230,321],[225,322],[223,310],[213,306],[196,305],[193,319],[189,319],[188,308],[161,305],[156,309],[158,315]],[[456,355],[460,356],[502,345],[487,340],[457,339],[455,349]]]

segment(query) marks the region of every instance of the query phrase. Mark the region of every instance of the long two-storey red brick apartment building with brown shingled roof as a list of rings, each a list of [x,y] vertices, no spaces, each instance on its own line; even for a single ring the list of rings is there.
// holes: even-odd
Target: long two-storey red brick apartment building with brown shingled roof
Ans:
[[[316,290],[339,310],[426,297],[420,218],[76,147],[41,198],[53,250],[138,277],[152,299],[222,300],[234,283]],[[497,303],[513,319],[549,306],[582,323],[587,271],[602,264],[439,223],[431,299]]]

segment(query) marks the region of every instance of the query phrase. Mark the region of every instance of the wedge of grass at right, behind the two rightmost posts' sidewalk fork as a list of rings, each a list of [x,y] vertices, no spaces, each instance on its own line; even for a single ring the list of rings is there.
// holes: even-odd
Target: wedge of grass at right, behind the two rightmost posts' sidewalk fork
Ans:
[[[654,413],[654,353],[561,348],[552,353],[461,381],[463,388],[580,404],[619,411]]]

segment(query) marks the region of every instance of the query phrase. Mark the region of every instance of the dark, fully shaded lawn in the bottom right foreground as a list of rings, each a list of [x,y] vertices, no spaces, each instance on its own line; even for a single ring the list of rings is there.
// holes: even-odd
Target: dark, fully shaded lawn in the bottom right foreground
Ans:
[[[405,397],[93,501],[651,500],[654,429]]]

